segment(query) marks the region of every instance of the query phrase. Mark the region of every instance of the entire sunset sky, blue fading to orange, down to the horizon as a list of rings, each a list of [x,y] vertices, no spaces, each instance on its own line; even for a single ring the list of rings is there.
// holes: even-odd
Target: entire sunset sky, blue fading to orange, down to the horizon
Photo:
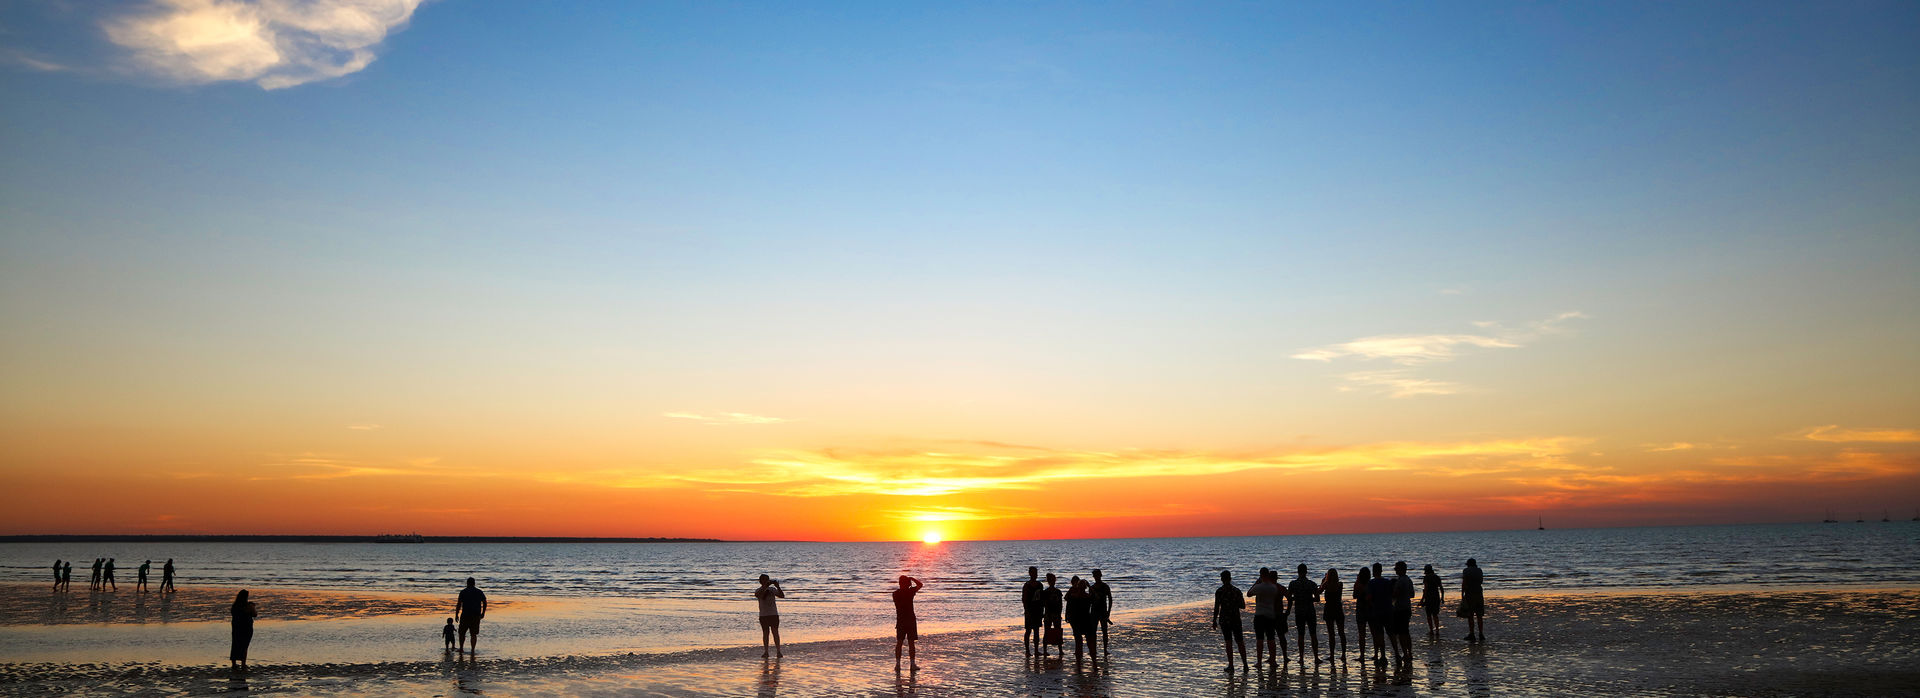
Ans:
[[[0,533],[1920,516],[1910,2],[0,6]]]

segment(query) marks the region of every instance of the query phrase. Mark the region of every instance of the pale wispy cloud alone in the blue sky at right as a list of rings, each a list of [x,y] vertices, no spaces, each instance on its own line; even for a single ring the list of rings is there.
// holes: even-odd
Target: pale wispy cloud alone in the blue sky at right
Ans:
[[[1526,322],[1517,328],[1500,322],[1473,322],[1482,332],[1453,334],[1382,334],[1371,337],[1331,343],[1325,347],[1302,349],[1292,359],[1332,362],[1336,359],[1388,361],[1400,366],[1421,366],[1459,359],[1475,349],[1519,349],[1540,337],[1565,334],[1569,320],[1586,318],[1586,313],[1569,311],[1546,320]],[[1371,387],[1390,397],[1453,395],[1465,385],[1421,378],[1411,368],[1363,370],[1340,376],[1348,382],[1344,389]]]

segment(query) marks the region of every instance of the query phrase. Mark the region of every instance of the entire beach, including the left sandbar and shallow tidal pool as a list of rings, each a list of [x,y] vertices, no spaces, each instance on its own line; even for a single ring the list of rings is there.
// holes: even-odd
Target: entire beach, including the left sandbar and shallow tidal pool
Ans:
[[[488,616],[478,656],[457,658],[442,652],[438,639],[451,594],[255,589],[263,610],[286,616],[263,614],[255,667],[234,673],[225,662],[227,625],[207,612],[136,617],[134,594],[123,591],[106,616],[71,621],[73,600],[65,614],[50,612],[44,589],[4,585],[0,594],[10,608],[0,617],[6,694],[1895,696],[1920,688],[1920,589],[1496,594],[1482,644],[1463,642],[1465,625],[1450,614],[1440,639],[1428,639],[1415,617],[1411,667],[1363,663],[1356,648],[1344,662],[1309,660],[1252,675],[1238,665],[1223,669],[1219,635],[1208,629],[1200,602],[1119,614],[1114,652],[1102,662],[1071,660],[1071,640],[1066,660],[1027,658],[1006,619],[927,633],[922,669],[895,673],[891,639],[808,637],[804,619],[789,625],[785,658],[778,660],[760,660],[751,627],[739,627],[733,646],[568,648],[566,629],[591,625],[591,612],[505,594]],[[205,606],[198,596],[173,604]],[[359,610],[363,604],[374,610]]]

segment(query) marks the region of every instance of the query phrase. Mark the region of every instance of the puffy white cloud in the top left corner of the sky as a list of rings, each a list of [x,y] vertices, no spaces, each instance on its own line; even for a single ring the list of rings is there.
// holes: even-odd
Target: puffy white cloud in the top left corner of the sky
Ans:
[[[169,81],[267,90],[365,69],[420,0],[152,0],[102,23],[134,63]]]

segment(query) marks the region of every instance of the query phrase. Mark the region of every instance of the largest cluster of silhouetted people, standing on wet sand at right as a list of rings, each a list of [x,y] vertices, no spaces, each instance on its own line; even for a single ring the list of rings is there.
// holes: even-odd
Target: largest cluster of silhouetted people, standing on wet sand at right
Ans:
[[[1486,639],[1486,596],[1484,575],[1476,560],[1467,558],[1461,570],[1459,608],[1455,616],[1467,619],[1467,642]],[[1440,637],[1440,606],[1446,602],[1446,583],[1427,566],[1421,575],[1421,608],[1427,612],[1427,635]],[[1240,625],[1240,612],[1246,598],[1254,600],[1254,663],[1265,658],[1267,665],[1284,665],[1288,617],[1294,619],[1294,644],[1300,648],[1300,663],[1306,665],[1308,642],[1313,644],[1313,663],[1329,662],[1334,646],[1346,658],[1346,606],[1344,585],[1338,570],[1327,570],[1321,581],[1308,579],[1308,566],[1296,568],[1292,583],[1281,587],[1275,570],[1260,568],[1260,575],[1246,593],[1233,585],[1233,571],[1221,570],[1219,589],[1213,591],[1212,627],[1221,631],[1227,646],[1227,671],[1233,671],[1235,646],[1240,650],[1240,667],[1246,669],[1246,635]],[[1386,662],[1386,648],[1392,646],[1394,663],[1413,662],[1413,577],[1407,575],[1407,562],[1394,564],[1394,575],[1382,573],[1380,564],[1363,566],[1354,577],[1354,627],[1359,635],[1359,660],[1367,662],[1367,633],[1373,633],[1373,660]],[[1315,604],[1325,608],[1315,614]],[[1327,658],[1321,658],[1317,621],[1327,623]],[[1279,662],[1275,662],[1279,656]]]

